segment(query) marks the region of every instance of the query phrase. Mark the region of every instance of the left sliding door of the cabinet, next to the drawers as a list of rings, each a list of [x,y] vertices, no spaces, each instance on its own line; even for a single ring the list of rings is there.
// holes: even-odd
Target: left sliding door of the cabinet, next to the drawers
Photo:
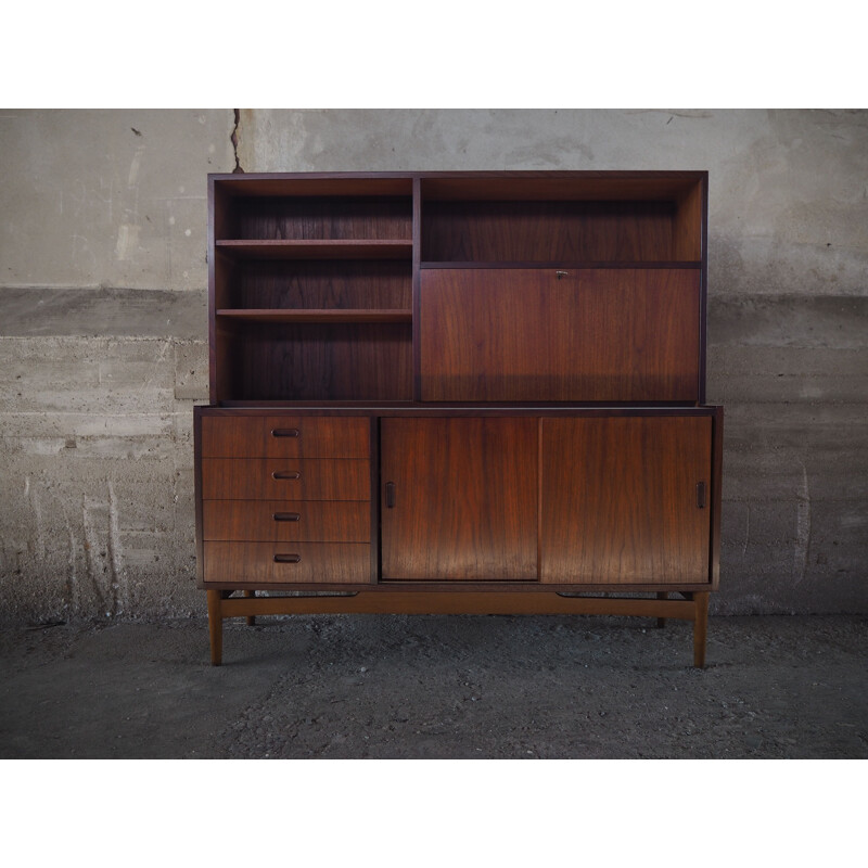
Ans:
[[[381,436],[383,578],[536,579],[535,419],[384,419]]]

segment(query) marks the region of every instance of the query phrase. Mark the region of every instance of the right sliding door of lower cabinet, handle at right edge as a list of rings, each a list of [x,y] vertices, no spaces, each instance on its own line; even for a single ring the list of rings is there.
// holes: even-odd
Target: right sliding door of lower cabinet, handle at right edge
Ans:
[[[542,582],[710,580],[709,417],[545,419]]]

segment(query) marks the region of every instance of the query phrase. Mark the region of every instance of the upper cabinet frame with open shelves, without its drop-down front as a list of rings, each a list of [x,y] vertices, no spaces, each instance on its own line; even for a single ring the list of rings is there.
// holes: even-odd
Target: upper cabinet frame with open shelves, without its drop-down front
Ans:
[[[659,399],[705,400],[706,171],[210,175],[208,205],[214,405],[421,401],[444,268],[694,271],[697,390]]]

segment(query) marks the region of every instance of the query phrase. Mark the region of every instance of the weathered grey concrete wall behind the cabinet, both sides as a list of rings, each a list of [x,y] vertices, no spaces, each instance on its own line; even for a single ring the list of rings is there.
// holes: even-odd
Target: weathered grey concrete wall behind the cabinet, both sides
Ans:
[[[0,113],[0,616],[204,611],[208,171],[711,173],[717,613],[868,611],[868,113]]]

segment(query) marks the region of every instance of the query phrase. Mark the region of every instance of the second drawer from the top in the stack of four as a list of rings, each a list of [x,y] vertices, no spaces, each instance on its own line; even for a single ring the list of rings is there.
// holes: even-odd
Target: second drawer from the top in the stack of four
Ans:
[[[335,458],[203,458],[204,500],[370,500],[371,464]]]

